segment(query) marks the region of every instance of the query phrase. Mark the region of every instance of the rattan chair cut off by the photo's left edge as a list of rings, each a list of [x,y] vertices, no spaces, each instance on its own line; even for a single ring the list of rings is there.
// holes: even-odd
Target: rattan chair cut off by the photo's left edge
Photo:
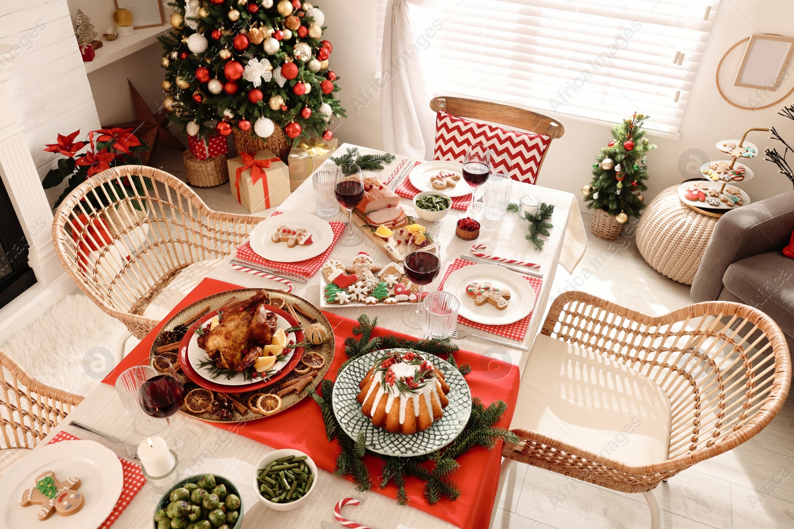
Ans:
[[[0,351],[0,451],[32,449],[83,397],[36,381]]]

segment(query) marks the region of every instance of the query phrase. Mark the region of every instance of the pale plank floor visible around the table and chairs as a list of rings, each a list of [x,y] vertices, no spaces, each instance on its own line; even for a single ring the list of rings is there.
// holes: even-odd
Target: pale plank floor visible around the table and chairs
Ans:
[[[152,165],[183,178],[181,153],[160,148]],[[199,190],[212,209],[245,213],[229,184]],[[590,217],[585,216],[589,226]],[[639,255],[633,224],[608,243],[590,237],[574,274],[559,267],[552,297],[578,289],[650,314],[692,301],[689,287],[658,274]],[[105,317],[104,315],[102,315]],[[109,317],[109,316],[106,316]],[[128,347],[131,347],[131,343]],[[794,527],[794,401],[742,446],[685,470],[654,491],[669,529]],[[650,526],[642,495],[614,493],[596,485],[515,463],[499,499],[499,529],[629,529]]]

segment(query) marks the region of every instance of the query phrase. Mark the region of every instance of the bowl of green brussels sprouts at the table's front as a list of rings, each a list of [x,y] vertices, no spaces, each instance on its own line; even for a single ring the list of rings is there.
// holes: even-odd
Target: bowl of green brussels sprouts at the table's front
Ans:
[[[197,474],[160,498],[155,529],[240,529],[243,500],[234,484],[217,474]]]

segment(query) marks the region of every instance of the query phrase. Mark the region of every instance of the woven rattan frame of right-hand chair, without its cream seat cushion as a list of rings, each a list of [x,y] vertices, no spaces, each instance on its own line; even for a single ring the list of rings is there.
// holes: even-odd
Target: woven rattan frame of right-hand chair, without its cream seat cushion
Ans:
[[[553,345],[557,339],[577,351],[588,351],[599,362],[610,363],[606,357],[621,369],[634,370],[636,378],[644,377],[669,399],[669,434],[666,425],[662,428],[662,440],[668,442],[661,444],[666,459],[630,465],[516,424],[522,406],[534,404],[524,392],[529,386],[525,380],[532,378],[532,357],[551,354],[560,347]],[[538,347],[543,342],[545,347]],[[565,376],[571,377],[561,375]],[[598,374],[593,377],[591,371],[589,376],[592,385]],[[657,529],[660,512],[651,491],[681,470],[738,447],[760,432],[783,406],[791,377],[783,332],[769,316],[748,305],[714,301],[649,316],[587,293],[563,293],[549,309],[522,374],[522,394],[511,424],[521,441],[504,447],[501,477],[515,460],[607,489],[643,493],[651,510],[651,527]],[[553,383],[547,380],[541,383]],[[598,412],[587,407],[585,411]]]

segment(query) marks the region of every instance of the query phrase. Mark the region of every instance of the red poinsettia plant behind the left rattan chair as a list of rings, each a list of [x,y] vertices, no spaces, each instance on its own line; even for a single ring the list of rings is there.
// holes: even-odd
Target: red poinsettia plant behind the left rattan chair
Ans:
[[[75,141],[80,131],[75,130],[68,136],[58,135],[55,144],[48,144],[44,151],[57,152],[64,155],[58,160],[58,167],[50,170],[41,182],[44,189],[60,186],[67,180],[64,192],[56,200],[56,207],[75,187],[91,178],[94,174],[101,173],[110,167],[121,165],[142,165],[143,161],[138,155],[148,151],[150,147],[142,142],[133,133],[132,128],[100,128],[88,132],[87,141]],[[152,189],[152,182],[148,178],[133,175],[117,181],[107,182],[106,193],[91,194],[88,200],[95,207],[107,205],[107,197],[129,197],[142,194],[145,189]],[[142,210],[144,205],[140,201],[131,201],[135,209]]]

